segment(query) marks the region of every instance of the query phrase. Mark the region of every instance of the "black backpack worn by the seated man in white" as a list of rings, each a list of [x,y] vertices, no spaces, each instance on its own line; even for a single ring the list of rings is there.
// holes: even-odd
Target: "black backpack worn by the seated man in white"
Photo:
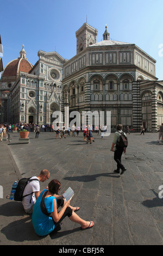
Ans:
[[[30,193],[30,194],[26,194],[26,196],[23,196],[23,192],[24,192],[24,188],[27,186],[27,184],[33,180],[38,180],[39,179],[31,179],[30,178],[22,178],[20,181],[18,181],[17,187],[16,187],[16,191],[14,194],[14,200],[15,201],[21,201],[23,200],[24,197],[29,196],[30,194],[33,194],[34,192]],[[31,203],[31,200],[30,200]]]

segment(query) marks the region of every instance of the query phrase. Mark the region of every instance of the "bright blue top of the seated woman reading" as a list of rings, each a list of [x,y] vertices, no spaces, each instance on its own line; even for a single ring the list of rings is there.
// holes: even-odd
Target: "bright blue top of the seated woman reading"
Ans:
[[[45,191],[47,190],[43,190],[40,196],[37,198],[36,203],[34,205],[33,214],[32,214],[33,227],[35,229],[36,234],[40,236],[48,235],[55,228],[52,217],[49,217],[43,214],[43,212],[41,211],[40,204],[41,204],[42,195]],[[44,202],[45,202],[45,206],[48,213],[53,212],[53,199],[55,199],[57,202],[57,199],[53,196],[45,198]]]

